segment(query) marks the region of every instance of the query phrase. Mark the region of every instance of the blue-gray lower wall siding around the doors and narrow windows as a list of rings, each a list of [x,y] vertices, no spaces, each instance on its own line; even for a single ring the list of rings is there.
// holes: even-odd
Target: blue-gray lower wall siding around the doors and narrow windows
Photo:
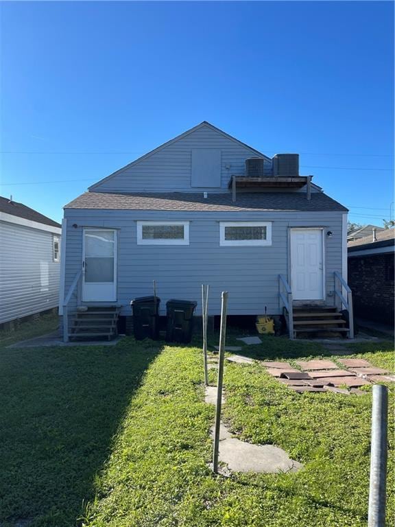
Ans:
[[[289,228],[324,227],[326,303],[333,305],[333,272],[342,272],[342,211],[337,212],[181,212],[99,211],[66,209],[66,288],[81,268],[83,227],[118,229],[117,302],[130,315],[130,300],[152,294],[156,280],[161,314],[169,298],[198,301],[202,283],[210,285],[209,314],[217,315],[221,292],[229,292],[229,314],[280,314],[278,274],[289,274]],[[136,221],[189,221],[189,246],[147,246],[136,243]],[[272,246],[221,247],[219,221],[270,221]],[[77,227],[73,227],[77,224]],[[75,306],[73,297],[71,305]]]

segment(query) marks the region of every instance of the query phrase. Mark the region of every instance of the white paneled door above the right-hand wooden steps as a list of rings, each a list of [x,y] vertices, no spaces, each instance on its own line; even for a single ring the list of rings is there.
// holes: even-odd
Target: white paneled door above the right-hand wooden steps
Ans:
[[[322,229],[291,229],[291,289],[294,300],[324,300]]]

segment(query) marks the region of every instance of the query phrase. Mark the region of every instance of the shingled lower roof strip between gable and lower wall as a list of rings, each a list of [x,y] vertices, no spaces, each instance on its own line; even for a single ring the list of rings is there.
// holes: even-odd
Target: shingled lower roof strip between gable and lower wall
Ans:
[[[164,211],[347,211],[346,207],[322,192],[239,193],[236,202],[232,194],[150,193],[105,194],[86,192],[67,204],[65,209],[125,209]]]

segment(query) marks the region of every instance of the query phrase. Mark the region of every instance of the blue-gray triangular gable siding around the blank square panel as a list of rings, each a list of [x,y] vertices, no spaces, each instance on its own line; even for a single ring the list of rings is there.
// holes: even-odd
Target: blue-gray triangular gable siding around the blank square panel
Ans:
[[[232,141],[224,135],[203,126],[195,132],[148,156],[136,165],[126,167],[117,174],[97,185],[95,192],[202,192],[204,187],[191,187],[191,165],[193,148],[221,150],[221,186],[217,191],[228,188],[230,176],[243,175],[246,159],[259,157],[256,152]],[[264,157],[264,156],[261,156]],[[229,169],[226,166],[230,165]],[[270,161],[265,161],[267,173]],[[215,188],[210,187],[210,192]]]

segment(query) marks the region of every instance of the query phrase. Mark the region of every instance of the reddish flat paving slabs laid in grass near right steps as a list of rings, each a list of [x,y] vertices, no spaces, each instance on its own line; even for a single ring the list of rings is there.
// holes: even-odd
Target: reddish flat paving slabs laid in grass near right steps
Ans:
[[[297,393],[324,392],[340,393],[344,395],[365,395],[358,390],[360,386],[371,382],[395,382],[395,375],[385,375],[383,368],[375,368],[365,359],[339,359],[344,366],[340,369],[331,360],[297,360],[296,364],[304,371],[298,371],[288,362],[260,361],[267,373],[276,377],[281,384]],[[350,390],[339,388],[347,386]]]

